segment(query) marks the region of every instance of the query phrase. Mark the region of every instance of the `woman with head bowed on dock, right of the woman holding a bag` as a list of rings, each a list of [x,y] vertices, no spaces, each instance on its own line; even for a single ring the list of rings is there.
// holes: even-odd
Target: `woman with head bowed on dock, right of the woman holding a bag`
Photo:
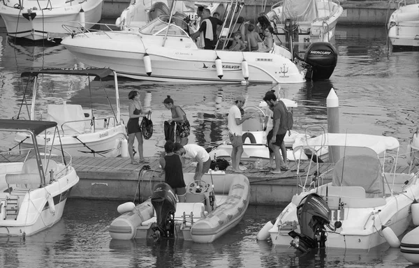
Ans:
[[[163,104],[164,107],[172,112],[172,119],[169,119],[168,123],[172,124],[172,121],[176,123],[175,141],[182,145],[188,144],[188,136],[191,133],[191,125],[189,124],[188,119],[186,119],[186,113],[181,107],[173,103],[170,96],[163,101]]]

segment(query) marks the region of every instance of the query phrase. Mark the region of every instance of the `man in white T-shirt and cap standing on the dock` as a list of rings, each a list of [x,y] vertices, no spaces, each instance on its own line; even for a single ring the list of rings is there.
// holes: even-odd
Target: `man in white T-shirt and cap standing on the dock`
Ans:
[[[230,138],[233,150],[231,151],[231,166],[233,172],[242,173],[240,170],[240,158],[243,154],[243,141],[242,141],[242,123],[247,119],[251,118],[251,115],[240,112],[240,108],[243,107],[246,99],[244,96],[236,96],[234,98],[234,105],[230,107],[228,111],[228,137]]]

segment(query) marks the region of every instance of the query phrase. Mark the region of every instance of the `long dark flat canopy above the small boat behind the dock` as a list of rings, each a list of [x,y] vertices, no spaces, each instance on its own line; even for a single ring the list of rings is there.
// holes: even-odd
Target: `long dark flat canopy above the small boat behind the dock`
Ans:
[[[45,68],[40,70],[30,70],[23,72],[21,77],[37,76],[39,74],[50,74],[50,75],[87,75],[96,76],[99,78],[107,77],[108,75],[114,75],[113,70],[110,68]]]

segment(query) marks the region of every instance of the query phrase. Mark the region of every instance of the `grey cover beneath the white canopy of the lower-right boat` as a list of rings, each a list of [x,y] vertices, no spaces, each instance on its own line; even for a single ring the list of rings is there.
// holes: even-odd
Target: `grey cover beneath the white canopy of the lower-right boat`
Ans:
[[[361,186],[367,198],[382,198],[381,163],[376,156],[344,156],[335,165],[332,186]]]

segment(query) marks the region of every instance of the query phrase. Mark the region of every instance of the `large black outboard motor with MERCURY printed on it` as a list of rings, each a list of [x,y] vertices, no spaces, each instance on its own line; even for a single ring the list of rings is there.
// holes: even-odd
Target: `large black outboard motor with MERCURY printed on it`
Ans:
[[[326,80],[335,70],[337,51],[328,42],[311,43],[304,54],[304,62],[309,65],[306,79]]]

